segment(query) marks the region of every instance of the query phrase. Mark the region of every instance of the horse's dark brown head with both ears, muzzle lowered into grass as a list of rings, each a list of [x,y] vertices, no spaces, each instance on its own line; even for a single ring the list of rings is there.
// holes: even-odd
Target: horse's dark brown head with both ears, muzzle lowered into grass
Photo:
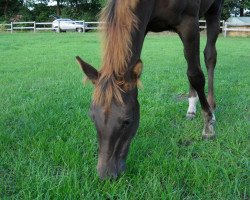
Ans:
[[[95,90],[101,74],[91,65],[77,57],[84,73],[95,85]],[[136,82],[141,74],[142,63],[139,61],[128,73],[129,84],[121,85],[122,103],[112,97],[108,108],[104,104],[92,102],[90,116],[95,124],[99,151],[97,170],[101,179],[116,178],[125,170],[131,139],[139,125],[139,103]],[[131,83],[131,84],[130,84]],[[105,92],[105,91],[103,91]]]

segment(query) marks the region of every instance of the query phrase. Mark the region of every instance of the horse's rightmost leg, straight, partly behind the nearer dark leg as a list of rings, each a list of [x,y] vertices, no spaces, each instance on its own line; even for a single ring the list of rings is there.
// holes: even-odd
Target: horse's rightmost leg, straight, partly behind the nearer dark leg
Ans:
[[[220,32],[220,19],[218,15],[206,15],[207,44],[204,50],[205,63],[208,71],[208,103],[214,110],[216,107],[214,98],[214,68],[217,60],[216,41]]]

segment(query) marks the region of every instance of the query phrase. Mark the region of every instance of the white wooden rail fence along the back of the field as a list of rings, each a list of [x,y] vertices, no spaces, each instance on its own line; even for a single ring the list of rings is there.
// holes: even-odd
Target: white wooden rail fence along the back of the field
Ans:
[[[85,22],[85,21],[74,21],[75,23],[83,24],[83,32],[87,30],[97,30],[100,29],[99,24],[103,22]],[[60,32],[60,21],[58,22],[58,27],[53,27],[52,22],[11,22],[10,24],[0,24],[0,27],[6,31],[13,33],[14,30],[33,30],[36,31],[45,31],[45,30],[55,30]],[[199,28],[207,29],[207,24],[205,20],[199,20]],[[239,31],[239,32],[250,32],[250,28],[235,28],[225,21],[220,21],[220,29],[224,32],[224,36],[227,36],[227,33],[230,31]]]

